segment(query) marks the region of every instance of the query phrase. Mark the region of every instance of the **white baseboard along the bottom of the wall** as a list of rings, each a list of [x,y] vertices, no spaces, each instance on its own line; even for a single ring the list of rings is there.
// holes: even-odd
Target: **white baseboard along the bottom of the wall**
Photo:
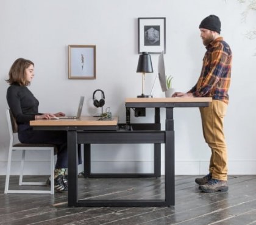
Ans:
[[[7,162],[0,161],[0,175],[6,174]],[[24,175],[48,175],[49,161],[27,161]],[[165,164],[162,161],[161,171],[164,175]],[[83,171],[79,165],[78,171]],[[94,173],[152,173],[152,161],[92,161]],[[20,162],[12,162],[11,175],[19,175]],[[176,175],[205,175],[208,173],[208,161],[176,161]],[[229,161],[229,175],[256,175],[256,160]]]

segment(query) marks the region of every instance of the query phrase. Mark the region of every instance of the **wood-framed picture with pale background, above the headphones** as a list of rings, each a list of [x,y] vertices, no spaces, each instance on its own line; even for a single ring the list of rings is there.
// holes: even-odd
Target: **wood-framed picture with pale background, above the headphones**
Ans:
[[[68,46],[68,78],[96,79],[96,46]]]

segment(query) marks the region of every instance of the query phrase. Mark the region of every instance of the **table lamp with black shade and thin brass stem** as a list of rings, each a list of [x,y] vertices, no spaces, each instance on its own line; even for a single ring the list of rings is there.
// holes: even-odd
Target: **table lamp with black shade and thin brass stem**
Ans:
[[[151,62],[151,56],[148,52],[142,52],[138,60],[137,72],[142,72],[142,94],[138,95],[138,98],[149,98],[152,95],[144,95],[144,79],[146,72],[154,72]]]

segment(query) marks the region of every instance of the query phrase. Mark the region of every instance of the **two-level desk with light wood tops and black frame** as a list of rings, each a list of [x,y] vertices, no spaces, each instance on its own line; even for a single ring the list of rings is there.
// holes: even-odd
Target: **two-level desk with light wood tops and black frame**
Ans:
[[[176,107],[207,107],[211,98],[132,98],[126,99],[127,126],[131,108],[155,108],[155,123],[160,123],[160,108],[166,108],[165,130],[151,130],[151,125],[141,125],[135,130],[119,131],[118,118],[99,121],[95,117],[77,120],[33,120],[36,130],[66,130],[68,136],[68,206],[174,206],[174,118]],[[148,127],[148,128],[147,128]],[[148,130],[147,130],[148,129]],[[77,144],[154,144],[160,151],[165,144],[165,199],[78,199]],[[160,153],[157,153],[160,156]],[[157,165],[158,167],[159,165]]]

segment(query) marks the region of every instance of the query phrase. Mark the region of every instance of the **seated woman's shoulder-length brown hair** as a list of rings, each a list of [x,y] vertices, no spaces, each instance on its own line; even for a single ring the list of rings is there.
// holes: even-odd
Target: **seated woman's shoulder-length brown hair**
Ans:
[[[10,85],[13,83],[18,83],[20,86],[27,86],[29,82],[26,80],[26,69],[30,65],[34,66],[34,63],[30,60],[24,58],[18,58],[10,67],[9,79],[6,80]]]

